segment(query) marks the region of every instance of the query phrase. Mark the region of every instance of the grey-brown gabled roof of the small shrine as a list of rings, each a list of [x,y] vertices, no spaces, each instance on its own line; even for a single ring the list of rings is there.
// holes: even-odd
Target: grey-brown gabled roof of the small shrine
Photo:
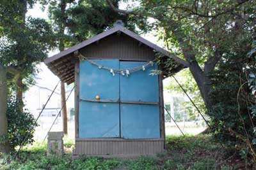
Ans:
[[[179,57],[177,57],[176,55],[173,55],[172,53],[164,50],[163,48],[155,45],[154,43],[151,43],[147,39],[142,38],[141,36],[135,34],[134,32],[129,31],[128,29],[125,29],[125,27],[122,27],[121,25],[116,25],[115,27],[113,27],[112,29],[109,29],[108,31],[104,31],[104,32],[98,34],[97,36],[94,36],[93,38],[87,39],[77,45],[71,46],[70,48],[63,50],[62,52],[57,53],[56,55],[53,55],[52,57],[45,59],[44,62],[49,67],[49,69],[51,69],[51,71],[54,74],[56,74],[62,81],[65,81],[66,83],[72,83],[74,81],[74,66],[70,66],[70,69],[72,70],[72,71],[70,71],[70,74],[59,73],[57,67],[54,66],[54,64],[56,64],[56,61],[59,62],[60,60],[65,60],[65,58],[68,55],[69,56],[72,55],[77,50],[84,48],[85,46],[88,46],[92,43],[95,43],[95,42],[99,41],[100,39],[105,38],[115,32],[118,32],[118,31],[123,32],[127,36],[130,36],[131,38],[134,38],[137,41],[140,41],[140,43],[143,43],[144,45],[149,46],[150,48],[156,50],[157,52],[163,53],[163,55],[165,55],[166,57],[172,58],[173,60],[178,62],[181,65],[181,67],[188,67],[188,63],[186,61],[184,61],[184,60],[180,59]],[[70,62],[70,60],[69,60],[69,62]],[[60,64],[57,64],[57,65],[60,65]]]

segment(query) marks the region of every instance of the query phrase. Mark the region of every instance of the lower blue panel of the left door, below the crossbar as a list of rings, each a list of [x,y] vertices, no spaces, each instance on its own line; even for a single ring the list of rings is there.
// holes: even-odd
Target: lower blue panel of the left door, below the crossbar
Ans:
[[[119,104],[80,102],[79,138],[119,137],[119,124]]]

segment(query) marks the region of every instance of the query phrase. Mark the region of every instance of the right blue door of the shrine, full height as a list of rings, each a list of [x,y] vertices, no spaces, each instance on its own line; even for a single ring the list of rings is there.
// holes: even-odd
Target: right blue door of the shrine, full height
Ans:
[[[145,62],[120,62],[120,69]],[[120,75],[121,138],[159,138],[158,76],[149,75],[157,64],[130,76]]]

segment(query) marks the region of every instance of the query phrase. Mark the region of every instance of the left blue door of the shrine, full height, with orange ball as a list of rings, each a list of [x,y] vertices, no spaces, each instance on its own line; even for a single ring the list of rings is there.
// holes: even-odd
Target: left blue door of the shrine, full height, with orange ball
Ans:
[[[119,68],[118,60],[93,61]],[[79,70],[79,138],[120,137],[119,76],[87,60],[80,62]],[[100,102],[95,96],[100,97]]]

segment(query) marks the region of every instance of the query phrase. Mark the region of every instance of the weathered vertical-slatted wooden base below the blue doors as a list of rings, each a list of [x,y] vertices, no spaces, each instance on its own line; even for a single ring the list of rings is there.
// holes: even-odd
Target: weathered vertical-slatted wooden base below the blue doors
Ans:
[[[109,139],[109,138],[107,138]],[[133,155],[164,151],[164,139],[76,139],[74,155]]]

